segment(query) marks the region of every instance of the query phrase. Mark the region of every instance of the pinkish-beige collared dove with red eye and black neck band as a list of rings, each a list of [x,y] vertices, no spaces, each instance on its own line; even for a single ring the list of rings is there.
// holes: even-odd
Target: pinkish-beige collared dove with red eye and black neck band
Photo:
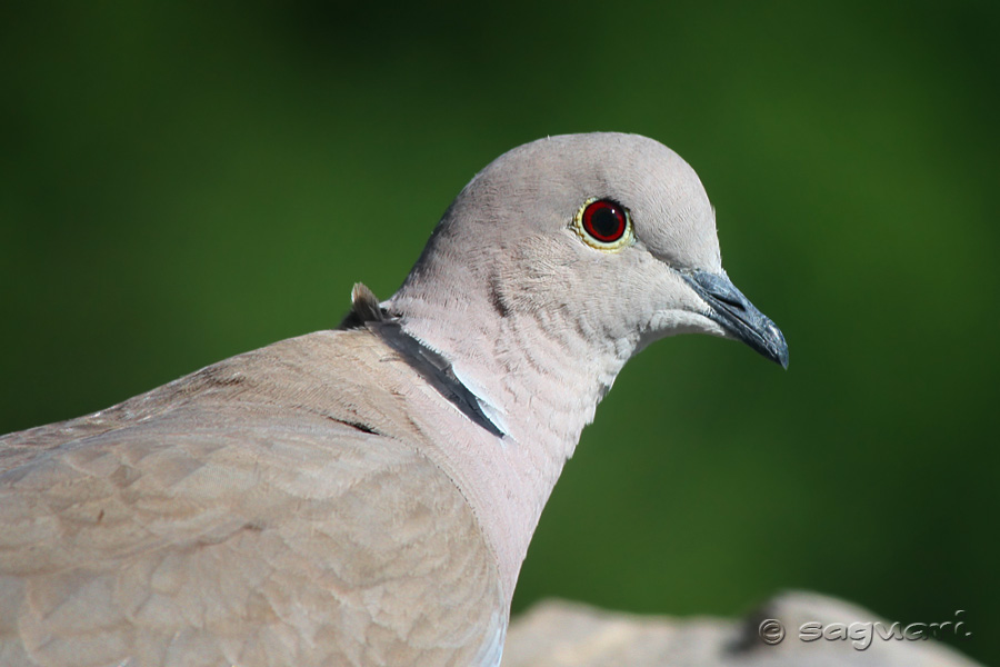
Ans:
[[[787,365],[670,149],[541,139],[339,330],[0,439],[0,664],[498,665],[528,542],[624,362]]]

